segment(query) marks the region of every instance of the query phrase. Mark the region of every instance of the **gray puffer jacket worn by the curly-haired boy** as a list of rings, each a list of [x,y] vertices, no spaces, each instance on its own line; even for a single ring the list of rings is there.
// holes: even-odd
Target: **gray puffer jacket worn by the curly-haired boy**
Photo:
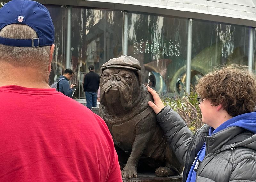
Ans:
[[[193,135],[169,106],[156,117],[177,158],[185,165],[183,181],[204,142],[205,157],[197,168],[196,182],[256,181],[256,134],[228,127],[208,136],[210,127],[204,125]]]

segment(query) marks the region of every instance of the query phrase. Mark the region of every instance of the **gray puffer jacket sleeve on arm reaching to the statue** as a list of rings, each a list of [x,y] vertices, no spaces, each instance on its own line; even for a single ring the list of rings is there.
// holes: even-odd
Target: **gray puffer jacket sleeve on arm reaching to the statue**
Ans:
[[[185,121],[170,106],[166,106],[156,115],[156,119],[164,130],[170,146],[180,163],[185,163],[186,152],[193,136]]]

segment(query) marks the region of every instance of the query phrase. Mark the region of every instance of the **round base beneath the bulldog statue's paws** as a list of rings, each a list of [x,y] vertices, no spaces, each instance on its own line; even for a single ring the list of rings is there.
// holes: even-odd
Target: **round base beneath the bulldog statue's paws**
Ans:
[[[181,182],[182,176],[158,177],[155,173],[138,173],[137,178],[123,179],[123,182]]]

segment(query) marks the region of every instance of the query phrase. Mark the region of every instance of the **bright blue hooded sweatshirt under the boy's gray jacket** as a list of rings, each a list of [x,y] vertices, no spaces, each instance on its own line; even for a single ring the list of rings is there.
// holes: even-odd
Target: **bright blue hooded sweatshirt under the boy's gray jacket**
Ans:
[[[215,130],[214,130],[214,128],[210,127],[209,136],[211,136],[212,134],[217,133],[225,128],[232,127],[232,126],[244,128],[246,130],[249,130],[253,134],[255,134],[256,133],[256,112],[241,114],[236,117],[233,117],[233,118],[227,120],[226,122],[222,123]],[[198,165],[204,159],[205,149],[206,149],[206,145],[204,143],[203,147],[198,152],[198,154],[190,168],[186,182],[195,182],[196,181],[196,171],[195,170],[198,168]]]

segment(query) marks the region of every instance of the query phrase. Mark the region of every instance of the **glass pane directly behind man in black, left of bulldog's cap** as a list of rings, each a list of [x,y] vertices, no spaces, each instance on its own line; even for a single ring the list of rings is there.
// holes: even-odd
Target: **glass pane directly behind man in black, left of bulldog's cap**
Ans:
[[[87,73],[89,65],[99,73],[102,64],[122,55],[122,25],[123,14],[119,11],[72,9],[71,69],[77,77]],[[80,98],[85,98],[83,84],[79,85]]]

